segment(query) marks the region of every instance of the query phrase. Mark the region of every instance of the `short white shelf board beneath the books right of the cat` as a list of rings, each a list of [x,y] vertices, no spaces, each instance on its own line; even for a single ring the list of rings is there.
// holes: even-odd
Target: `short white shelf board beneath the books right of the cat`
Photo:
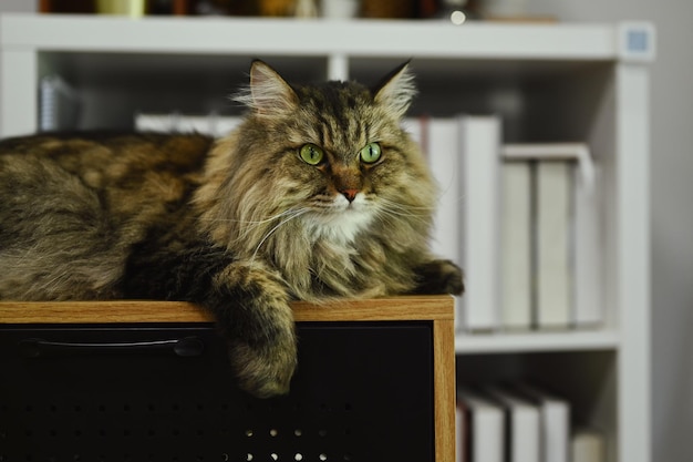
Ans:
[[[619,346],[619,333],[614,330],[551,332],[535,330],[455,336],[457,355],[616,350]]]

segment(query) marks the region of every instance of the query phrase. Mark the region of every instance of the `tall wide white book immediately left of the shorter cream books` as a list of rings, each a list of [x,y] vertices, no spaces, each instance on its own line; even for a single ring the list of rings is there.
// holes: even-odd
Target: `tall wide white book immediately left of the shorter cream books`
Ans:
[[[466,276],[462,322],[468,330],[493,330],[499,324],[500,121],[465,115],[458,124],[461,260]]]

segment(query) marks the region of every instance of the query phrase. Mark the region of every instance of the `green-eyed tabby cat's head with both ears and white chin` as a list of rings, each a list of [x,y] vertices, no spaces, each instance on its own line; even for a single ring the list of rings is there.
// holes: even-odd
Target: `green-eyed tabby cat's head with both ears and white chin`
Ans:
[[[316,238],[353,240],[374,222],[428,222],[434,187],[401,129],[415,93],[406,65],[375,90],[354,82],[290,86],[255,62],[251,109],[230,182],[241,222],[300,222]],[[231,193],[232,194],[232,193]]]

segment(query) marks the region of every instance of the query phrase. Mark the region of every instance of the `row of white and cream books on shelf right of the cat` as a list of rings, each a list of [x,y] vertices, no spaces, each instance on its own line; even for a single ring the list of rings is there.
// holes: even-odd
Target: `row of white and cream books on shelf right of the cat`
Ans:
[[[497,116],[407,125],[442,188],[433,249],[465,270],[457,328],[599,326],[599,182],[588,146],[503,144]]]

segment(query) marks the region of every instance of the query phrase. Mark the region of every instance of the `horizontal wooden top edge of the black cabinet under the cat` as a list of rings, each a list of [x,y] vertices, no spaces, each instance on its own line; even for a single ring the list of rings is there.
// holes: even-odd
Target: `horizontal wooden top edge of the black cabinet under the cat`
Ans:
[[[338,300],[324,305],[296,301],[298,322],[452,320],[451,296],[406,296]],[[214,317],[185,301],[1,301],[0,325],[8,324],[127,324],[214,322]]]

